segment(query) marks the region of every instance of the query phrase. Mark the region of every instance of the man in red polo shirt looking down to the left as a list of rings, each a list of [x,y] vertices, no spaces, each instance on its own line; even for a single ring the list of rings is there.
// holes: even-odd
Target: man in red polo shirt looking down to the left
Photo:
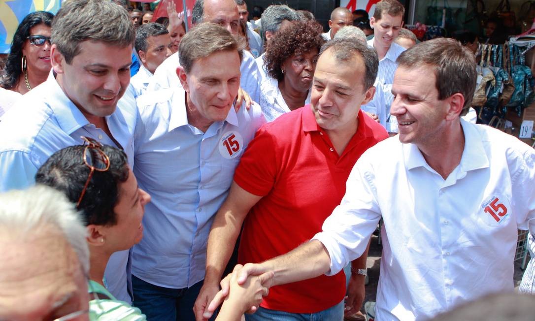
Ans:
[[[377,67],[375,51],[356,40],[326,43],[314,74],[311,104],[258,130],[213,222],[199,298],[219,287],[243,220],[239,249],[243,263],[287,253],[322,230],[323,221],[346,192],[358,157],[388,137],[381,125],[360,111],[375,92]],[[353,262],[346,303],[350,313],[358,311],[364,299],[365,273],[358,270],[365,271],[365,262],[366,254]],[[276,286],[256,314],[246,318],[293,320],[315,314],[320,320],[341,320],[345,294],[343,272]],[[197,319],[202,318],[197,315]]]

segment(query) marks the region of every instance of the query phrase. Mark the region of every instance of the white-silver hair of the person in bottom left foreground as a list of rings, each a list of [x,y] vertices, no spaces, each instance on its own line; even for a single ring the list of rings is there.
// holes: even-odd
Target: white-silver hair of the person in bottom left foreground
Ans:
[[[83,272],[89,275],[89,248],[86,227],[74,204],[57,190],[37,185],[26,190],[0,194],[0,228],[2,234],[14,234],[19,240],[57,227],[78,255]]]

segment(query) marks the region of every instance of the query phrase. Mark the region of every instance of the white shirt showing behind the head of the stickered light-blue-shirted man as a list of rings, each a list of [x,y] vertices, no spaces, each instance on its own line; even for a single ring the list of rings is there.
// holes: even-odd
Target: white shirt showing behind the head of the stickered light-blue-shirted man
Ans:
[[[181,88],[182,85],[177,75],[177,67],[179,66],[180,62],[177,51],[167,57],[167,59],[156,68],[154,75],[149,82],[149,86],[147,86],[147,91]],[[247,94],[251,96],[253,101],[257,102],[260,98],[258,68],[255,63],[255,57],[253,57],[247,50],[243,50],[240,72],[240,87],[247,91]]]

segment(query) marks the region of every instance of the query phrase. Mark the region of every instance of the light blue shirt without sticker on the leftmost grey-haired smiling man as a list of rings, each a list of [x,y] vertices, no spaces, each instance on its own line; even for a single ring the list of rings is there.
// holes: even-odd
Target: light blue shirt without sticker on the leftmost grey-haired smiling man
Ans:
[[[136,114],[133,89],[129,87],[116,111],[105,118],[131,166]],[[102,129],[89,123],[59,87],[51,71],[48,79],[23,95],[0,122],[0,192],[33,185],[39,167],[54,152],[82,144],[82,135],[116,146]],[[130,303],[127,262],[128,250],[114,253],[106,266],[105,277],[109,291]]]

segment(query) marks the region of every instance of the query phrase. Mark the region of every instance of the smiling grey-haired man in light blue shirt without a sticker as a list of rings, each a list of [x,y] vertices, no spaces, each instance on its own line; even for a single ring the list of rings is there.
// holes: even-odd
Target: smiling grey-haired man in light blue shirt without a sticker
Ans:
[[[82,144],[81,135],[122,148],[133,165],[137,110],[127,89],[134,42],[128,13],[111,2],[73,0],[52,27],[47,81],[22,96],[0,123],[0,192],[33,185],[48,157]],[[119,300],[132,302],[128,257],[128,250],[111,256],[105,281]]]

